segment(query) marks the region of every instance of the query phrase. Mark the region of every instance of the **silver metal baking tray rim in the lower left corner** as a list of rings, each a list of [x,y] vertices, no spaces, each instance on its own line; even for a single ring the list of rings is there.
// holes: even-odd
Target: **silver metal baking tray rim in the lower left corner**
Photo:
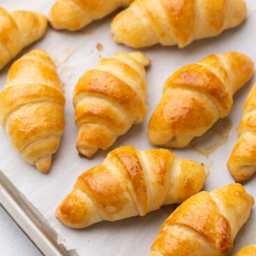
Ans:
[[[45,256],[79,256],[57,242],[58,234],[0,169],[0,206]]]

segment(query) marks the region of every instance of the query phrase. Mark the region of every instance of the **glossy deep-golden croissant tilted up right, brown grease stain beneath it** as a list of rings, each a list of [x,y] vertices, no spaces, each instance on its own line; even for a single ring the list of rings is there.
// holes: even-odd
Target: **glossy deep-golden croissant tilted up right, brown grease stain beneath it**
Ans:
[[[185,147],[232,109],[232,95],[253,74],[253,61],[244,54],[211,55],[177,70],[163,87],[148,137],[154,145]]]

